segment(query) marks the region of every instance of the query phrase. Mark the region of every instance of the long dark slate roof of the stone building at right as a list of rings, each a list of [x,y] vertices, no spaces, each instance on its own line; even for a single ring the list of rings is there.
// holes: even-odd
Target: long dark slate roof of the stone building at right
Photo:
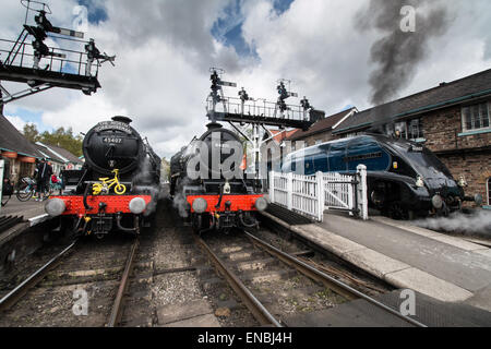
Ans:
[[[360,111],[346,119],[333,133],[362,130],[376,123],[404,119],[416,113],[444,108],[455,103],[490,94],[491,69]]]

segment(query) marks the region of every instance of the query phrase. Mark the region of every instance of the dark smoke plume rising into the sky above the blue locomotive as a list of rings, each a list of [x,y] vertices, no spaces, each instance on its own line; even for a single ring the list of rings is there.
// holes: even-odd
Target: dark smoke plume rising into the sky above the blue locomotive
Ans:
[[[405,5],[416,9],[415,32],[403,32]],[[427,56],[432,38],[443,35],[450,23],[448,3],[439,0],[370,0],[356,15],[360,32],[376,29],[383,37],[371,48],[371,61],[378,64],[370,75],[371,101],[381,105],[398,96],[412,80],[418,63]]]

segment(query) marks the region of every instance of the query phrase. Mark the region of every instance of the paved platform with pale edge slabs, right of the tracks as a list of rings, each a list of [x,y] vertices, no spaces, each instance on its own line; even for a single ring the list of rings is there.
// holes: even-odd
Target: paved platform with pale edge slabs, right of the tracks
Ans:
[[[322,224],[295,224],[282,214],[264,216],[395,288],[491,312],[491,250],[484,245],[384,217],[326,214]]]

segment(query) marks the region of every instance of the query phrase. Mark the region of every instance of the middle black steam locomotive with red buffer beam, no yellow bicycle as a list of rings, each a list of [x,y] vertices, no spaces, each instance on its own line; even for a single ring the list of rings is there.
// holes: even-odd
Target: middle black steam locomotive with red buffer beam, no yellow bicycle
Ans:
[[[240,144],[232,148],[230,144]],[[254,212],[266,209],[267,202],[261,193],[260,183],[244,178],[244,165],[230,169],[240,176],[228,176],[217,163],[227,164],[231,158],[243,158],[239,137],[218,123],[208,124],[208,131],[194,139],[170,161],[170,194],[181,216],[190,218],[196,232],[220,231],[232,228],[256,227]],[[200,159],[196,166],[193,160]],[[237,169],[235,166],[239,166]],[[195,176],[189,171],[193,170]]]

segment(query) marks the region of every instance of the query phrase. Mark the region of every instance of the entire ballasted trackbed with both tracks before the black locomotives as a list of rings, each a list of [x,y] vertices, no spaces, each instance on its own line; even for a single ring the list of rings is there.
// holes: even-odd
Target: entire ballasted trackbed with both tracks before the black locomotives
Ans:
[[[2,284],[0,326],[278,327],[354,299],[376,305],[367,294],[391,291],[267,229],[196,238],[166,214],[170,205],[139,240],[81,239],[29,258],[25,281]],[[87,294],[88,316],[72,313],[76,290]]]

